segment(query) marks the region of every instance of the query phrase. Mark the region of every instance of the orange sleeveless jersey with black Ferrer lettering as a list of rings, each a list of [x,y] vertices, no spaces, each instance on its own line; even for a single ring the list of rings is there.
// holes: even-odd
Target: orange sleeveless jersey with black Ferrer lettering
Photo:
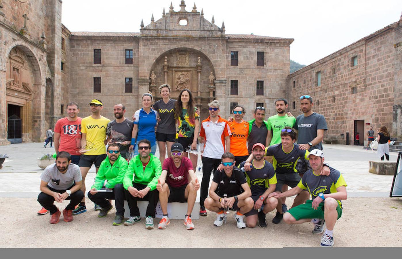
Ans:
[[[230,136],[230,153],[234,154],[234,156],[248,156],[247,137],[250,125],[246,121],[240,123],[232,121],[229,123],[229,127],[232,132],[232,136]]]

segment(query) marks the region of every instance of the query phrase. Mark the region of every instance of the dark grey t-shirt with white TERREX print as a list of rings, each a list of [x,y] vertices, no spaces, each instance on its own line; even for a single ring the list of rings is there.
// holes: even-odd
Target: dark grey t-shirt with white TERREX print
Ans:
[[[326,120],[323,115],[319,113],[312,113],[308,117],[304,117],[304,114],[297,116],[295,129],[297,129],[297,144],[307,144],[317,137],[317,129],[327,130]],[[321,142],[315,146],[312,146],[308,151],[313,149],[322,150]]]

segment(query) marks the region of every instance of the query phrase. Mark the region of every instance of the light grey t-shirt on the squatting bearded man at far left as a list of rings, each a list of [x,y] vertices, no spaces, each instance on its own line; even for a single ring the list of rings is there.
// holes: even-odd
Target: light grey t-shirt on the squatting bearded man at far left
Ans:
[[[54,163],[45,168],[41,174],[41,180],[47,182],[47,185],[53,189],[64,191],[69,189],[74,182],[82,181],[82,176],[80,167],[76,164],[70,164],[66,173],[62,174]]]

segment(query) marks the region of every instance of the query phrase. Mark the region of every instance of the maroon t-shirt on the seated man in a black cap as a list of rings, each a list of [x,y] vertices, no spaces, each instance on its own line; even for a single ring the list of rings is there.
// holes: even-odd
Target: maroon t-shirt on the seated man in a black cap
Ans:
[[[189,170],[193,169],[191,160],[187,157],[181,159],[181,164],[177,168],[174,165],[173,158],[169,157],[163,161],[162,170],[168,171],[166,183],[171,187],[181,187],[188,183]]]

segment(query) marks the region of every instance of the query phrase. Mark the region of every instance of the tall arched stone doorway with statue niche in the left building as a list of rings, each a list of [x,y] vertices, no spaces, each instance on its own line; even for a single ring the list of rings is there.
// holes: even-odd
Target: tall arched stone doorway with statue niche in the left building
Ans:
[[[5,78],[7,139],[10,142],[40,140],[41,117],[37,115],[43,110],[42,100],[38,98],[41,94],[41,70],[35,54],[28,47],[16,45],[11,48],[6,60]],[[38,123],[34,123],[34,117]],[[15,127],[14,124],[12,131],[12,125],[8,123],[18,124],[18,119],[20,126]]]

